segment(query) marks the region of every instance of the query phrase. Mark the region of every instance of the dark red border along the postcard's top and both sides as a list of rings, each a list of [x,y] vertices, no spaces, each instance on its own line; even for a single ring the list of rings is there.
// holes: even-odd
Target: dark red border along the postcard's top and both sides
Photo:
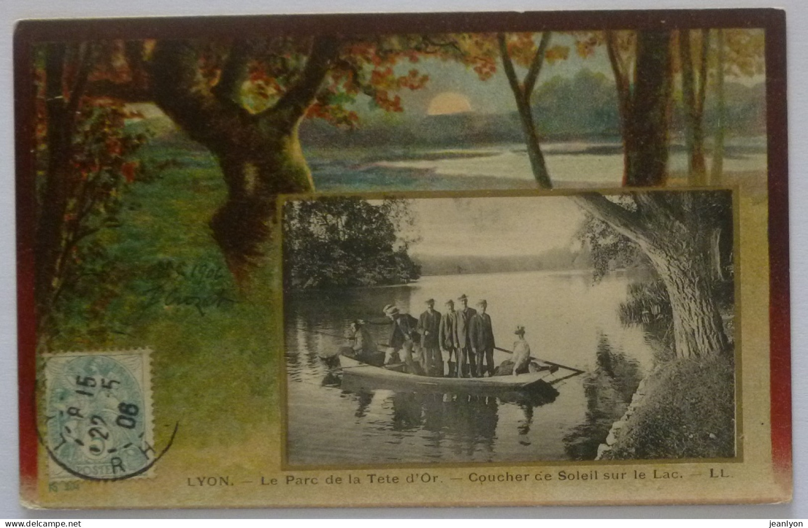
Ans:
[[[768,266],[770,330],[770,418],[772,464],[784,486],[792,480],[792,406],[789,318],[789,212],[786,100],[785,11],[730,10],[612,10],[548,11],[532,13],[430,13],[399,15],[275,15],[234,17],[178,17],[161,19],[32,20],[18,23],[15,31],[15,151],[16,234],[19,372],[19,470],[24,487],[36,485],[38,476],[36,401],[36,321],[34,298],[34,233],[36,196],[33,131],[35,98],[32,48],[48,40],[104,40],[127,38],[191,38],[267,32],[310,35],[337,31],[343,34],[412,31],[574,31],[583,29],[642,29],[654,27],[757,27],[765,30],[766,111],[768,157]],[[700,187],[706,190],[708,187]],[[676,189],[678,190],[678,189]],[[605,191],[605,190],[604,190]],[[621,188],[609,192],[626,192]],[[642,191],[655,191],[642,189]],[[662,189],[660,191],[672,191]],[[395,193],[384,193],[394,195]],[[455,193],[457,194],[457,193]],[[493,192],[482,195],[494,195]],[[498,192],[497,195],[507,193]],[[558,191],[553,191],[558,194]],[[407,194],[410,195],[409,193]],[[434,194],[433,194],[434,195]],[[737,199],[737,191],[734,199]],[[737,207],[734,207],[737,215]],[[735,220],[737,222],[737,218]],[[739,233],[735,235],[739,243]],[[736,278],[736,292],[740,278]],[[282,292],[280,292],[282,295]],[[738,304],[740,297],[737,297]],[[736,306],[736,311],[739,309]],[[283,319],[280,318],[280,325]],[[282,334],[281,334],[282,335]],[[737,351],[736,351],[736,354]],[[736,355],[736,358],[738,356]],[[737,366],[740,368],[740,365]],[[285,369],[280,385],[285,403]],[[736,396],[739,396],[736,386]],[[736,398],[736,411],[739,409]],[[284,405],[285,427],[285,405]],[[740,425],[739,425],[740,428]],[[285,439],[285,438],[284,438]],[[282,453],[286,460],[286,453]],[[736,456],[740,455],[739,453]],[[704,462],[704,460],[697,460]],[[722,459],[722,462],[729,460]],[[631,461],[636,463],[637,461]],[[692,460],[691,460],[692,462]],[[466,465],[466,464],[464,464]],[[483,465],[479,463],[469,465]],[[377,467],[377,466],[373,466]],[[396,466],[401,467],[401,466]],[[300,469],[300,467],[295,467]],[[282,464],[281,470],[286,469]]]

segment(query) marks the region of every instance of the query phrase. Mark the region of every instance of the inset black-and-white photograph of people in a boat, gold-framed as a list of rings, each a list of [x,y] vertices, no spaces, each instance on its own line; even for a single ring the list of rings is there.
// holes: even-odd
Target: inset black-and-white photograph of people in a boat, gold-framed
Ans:
[[[731,191],[280,207],[289,467],[736,455]]]

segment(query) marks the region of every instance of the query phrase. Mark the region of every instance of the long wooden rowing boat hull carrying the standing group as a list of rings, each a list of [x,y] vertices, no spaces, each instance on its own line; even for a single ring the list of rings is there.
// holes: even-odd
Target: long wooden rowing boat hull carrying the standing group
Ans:
[[[354,388],[385,388],[406,392],[496,394],[533,391],[549,388],[555,378],[549,370],[490,378],[436,378],[374,367],[347,356],[340,356],[339,363],[343,384],[347,382]]]

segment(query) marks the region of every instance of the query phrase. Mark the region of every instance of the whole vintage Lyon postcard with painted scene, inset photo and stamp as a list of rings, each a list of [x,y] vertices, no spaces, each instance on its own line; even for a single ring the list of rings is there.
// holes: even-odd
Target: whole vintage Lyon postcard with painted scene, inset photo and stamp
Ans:
[[[31,508],[789,501],[780,10],[31,20]]]

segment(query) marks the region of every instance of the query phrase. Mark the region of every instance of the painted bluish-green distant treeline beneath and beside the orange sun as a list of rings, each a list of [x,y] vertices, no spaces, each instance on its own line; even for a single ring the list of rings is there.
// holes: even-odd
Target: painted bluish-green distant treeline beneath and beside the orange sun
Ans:
[[[730,136],[762,136],[766,125],[765,86],[727,82],[726,132]],[[617,139],[620,116],[617,90],[611,78],[584,69],[573,78],[554,77],[542,84],[532,100],[538,132],[545,140]],[[466,112],[450,115],[402,115],[402,123],[360,124],[352,131],[332,127],[322,119],[309,119],[301,128],[304,145],[490,145],[524,140],[516,111],[507,114]],[[705,104],[705,132],[718,123],[711,98]],[[684,130],[684,108],[675,101],[671,113],[674,136]]]

